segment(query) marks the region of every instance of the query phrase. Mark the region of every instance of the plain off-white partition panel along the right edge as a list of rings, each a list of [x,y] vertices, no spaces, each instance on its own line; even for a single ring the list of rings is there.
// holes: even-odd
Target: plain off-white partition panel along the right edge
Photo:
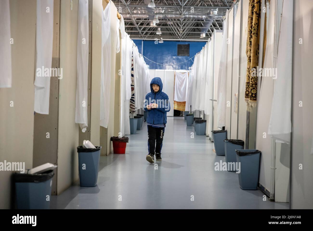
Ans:
[[[291,209],[313,208],[313,1],[295,0]]]

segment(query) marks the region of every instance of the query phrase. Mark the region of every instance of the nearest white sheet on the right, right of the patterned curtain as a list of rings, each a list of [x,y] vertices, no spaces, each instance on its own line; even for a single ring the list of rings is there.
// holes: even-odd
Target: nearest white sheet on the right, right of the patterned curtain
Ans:
[[[291,132],[291,80],[292,80],[292,25],[293,4],[284,1],[280,24],[277,72],[268,134],[290,143]],[[269,78],[269,77],[264,77]]]

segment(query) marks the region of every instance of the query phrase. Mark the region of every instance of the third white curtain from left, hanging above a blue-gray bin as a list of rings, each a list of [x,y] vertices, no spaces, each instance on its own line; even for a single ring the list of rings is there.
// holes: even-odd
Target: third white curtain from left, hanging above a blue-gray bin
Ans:
[[[88,127],[88,1],[78,2],[78,33],[77,33],[77,81],[75,123],[80,124],[82,132]]]

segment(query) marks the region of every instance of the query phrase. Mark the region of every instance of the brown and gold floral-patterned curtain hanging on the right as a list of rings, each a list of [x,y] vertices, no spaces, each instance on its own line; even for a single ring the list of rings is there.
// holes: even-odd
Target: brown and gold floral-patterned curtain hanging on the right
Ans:
[[[265,0],[264,0],[265,1]],[[266,14],[265,14],[266,16]],[[265,17],[266,19],[266,17]],[[258,75],[259,75],[259,41],[261,23],[261,0],[249,0],[248,33],[247,33],[247,76],[244,98],[247,102],[247,109],[256,107]],[[266,43],[266,20],[264,23],[264,49]],[[263,59],[264,61],[264,59]]]

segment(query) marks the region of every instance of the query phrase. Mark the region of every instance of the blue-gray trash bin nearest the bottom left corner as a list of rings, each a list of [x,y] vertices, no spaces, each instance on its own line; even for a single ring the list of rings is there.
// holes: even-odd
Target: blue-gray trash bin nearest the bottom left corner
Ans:
[[[49,209],[53,176],[53,170],[35,174],[15,173],[17,209]]]

